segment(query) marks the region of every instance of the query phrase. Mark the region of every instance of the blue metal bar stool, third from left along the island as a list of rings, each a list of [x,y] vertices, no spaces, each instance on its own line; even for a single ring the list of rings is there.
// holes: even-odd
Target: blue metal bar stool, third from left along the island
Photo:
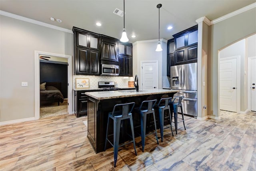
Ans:
[[[163,142],[163,135],[164,135],[164,111],[167,110],[169,117],[170,117],[170,125],[172,130],[172,121],[171,121],[171,111],[169,106],[169,101],[172,97],[162,98],[158,103],[158,110],[159,110],[159,121],[160,121],[160,133],[161,133],[161,141]],[[173,132],[172,132],[173,136]]]

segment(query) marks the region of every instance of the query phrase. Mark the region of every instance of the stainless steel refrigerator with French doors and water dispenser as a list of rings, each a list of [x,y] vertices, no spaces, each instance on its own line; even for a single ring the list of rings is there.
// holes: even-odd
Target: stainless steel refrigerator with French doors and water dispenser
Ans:
[[[171,66],[170,87],[183,95],[183,113],[197,117],[197,63]],[[180,112],[180,107],[178,108]]]

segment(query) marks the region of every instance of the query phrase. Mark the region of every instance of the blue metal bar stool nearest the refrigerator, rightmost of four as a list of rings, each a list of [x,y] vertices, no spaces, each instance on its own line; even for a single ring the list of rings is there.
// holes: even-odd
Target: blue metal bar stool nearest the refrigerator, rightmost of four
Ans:
[[[176,100],[177,98],[178,98],[178,100]],[[182,103],[181,103],[183,98],[184,98],[184,96],[174,96],[174,99],[169,101],[170,105],[172,105],[172,110],[174,113],[174,125],[175,125],[176,134],[177,134],[178,123],[181,121],[183,121],[184,129],[186,130],[185,122],[184,122],[184,114],[183,114],[183,109],[182,109]],[[178,117],[178,107],[180,107],[182,118]],[[171,113],[171,117],[172,117],[172,113]],[[178,119],[181,119],[181,120],[178,121]],[[172,121],[172,118],[171,118],[171,121]]]

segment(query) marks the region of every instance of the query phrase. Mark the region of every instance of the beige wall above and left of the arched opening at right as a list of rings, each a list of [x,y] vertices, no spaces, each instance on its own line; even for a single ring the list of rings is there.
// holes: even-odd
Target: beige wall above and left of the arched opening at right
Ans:
[[[208,115],[218,116],[218,50],[256,32],[256,8],[211,26],[211,54],[208,58]]]

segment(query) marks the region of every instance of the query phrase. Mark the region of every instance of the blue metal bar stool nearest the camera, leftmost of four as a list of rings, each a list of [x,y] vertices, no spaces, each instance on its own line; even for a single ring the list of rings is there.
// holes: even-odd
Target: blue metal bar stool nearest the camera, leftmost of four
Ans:
[[[121,121],[124,119],[130,119],[130,125],[131,125],[131,129],[132,129],[132,141],[133,141],[135,155],[137,155],[137,151],[135,148],[135,140],[134,140],[132,113],[131,113],[134,105],[135,105],[134,102],[125,103],[125,104],[117,104],[114,106],[113,111],[108,113],[108,124],[109,124],[109,118],[114,120],[114,145],[108,139],[108,124],[107,124],[104,151],[106,150],[106,143],[108,140],[108,142],[114,147],[114,167],[116,167],[117,153],[118,153],[118,147],[119,147],[120,124],[121,124]],[[122,108],[122,110],[119,110],[120,108]],[[130,143],[130,142],[131,141],[129,141],[128,143]],[[126,145],[128,143],[122,144],[120,146]]]

